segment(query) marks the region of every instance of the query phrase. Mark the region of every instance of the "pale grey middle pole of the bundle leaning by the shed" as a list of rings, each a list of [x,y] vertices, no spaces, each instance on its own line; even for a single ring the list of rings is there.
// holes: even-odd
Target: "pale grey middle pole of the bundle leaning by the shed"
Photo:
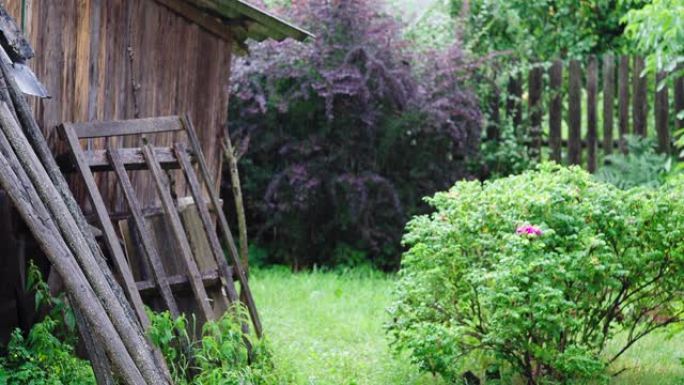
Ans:
[[[62,236],[76,256],[97,297],[102,301],[105,311],[121,335],[129,354],[133,357],[145,381],[150,385],[167,384],[168,382],[164,381],[159,366],[154,362],[151,347],[139,333],[138,324],[131,322],[129,314],[126,313],[107,280],[103,272],[104,269],[97,263],[96,256],[87,243],[88,237],[77,226],[63,196],[52,184],[43,164],[33,152],[30,143],[4,103],[0,106],[0,129],[10,142],[40,198],[47,203]]]

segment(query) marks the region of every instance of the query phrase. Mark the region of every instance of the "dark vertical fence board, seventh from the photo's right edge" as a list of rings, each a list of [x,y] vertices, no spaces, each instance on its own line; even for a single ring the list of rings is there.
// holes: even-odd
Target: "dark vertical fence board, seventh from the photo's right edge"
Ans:
[[[582,162],[582,68],[570,61],[568,82],[568,163]]]

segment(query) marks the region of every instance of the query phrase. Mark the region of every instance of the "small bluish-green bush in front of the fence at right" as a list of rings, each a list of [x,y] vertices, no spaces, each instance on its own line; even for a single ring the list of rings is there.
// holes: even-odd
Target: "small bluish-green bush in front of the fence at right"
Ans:
[[[652,139],[628,135],[625,140],[627,154],[607,156],[606,165],[597,170],[596,177],[621,189],[663,184],[672,168],[672,159],[666,154],[657,153]]]

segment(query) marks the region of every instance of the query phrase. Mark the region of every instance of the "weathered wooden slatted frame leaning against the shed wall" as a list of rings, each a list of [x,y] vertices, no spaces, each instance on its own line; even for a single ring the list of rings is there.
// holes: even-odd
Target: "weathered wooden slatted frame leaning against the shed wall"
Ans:
[[[130,135],[145,135],[158,133],[184,132],[187,143],[177,141],[171,147],[153,147],[149,143],[142,143],[141,147],[114,148],[107,140],[107,148],[101,150],[84,150],[81,140],[94,138],[120,137]],[[166,309],[174,316],[180,314],[179,306],[174,296],[174,289],[182,285],[189,285],[192,289],[199,315],[204,320],[214,320],[217,314],[212,310],[207,285],[219,281],[222,290],[220,300],[225,302],[224,308],[242,301],[249,312],[256,335],[261,338],[262,326],[249,288],[247,275],[241,265],[240,256],[235,246],[235,240],[228,226],[216,184],[207,166],[200,146],[197,132],[188,116],[168,116],[135,120],[91,123],[64,123],[59,127],[59,133],[66,141],[70,151],[72,166],[83,178],[88,198],[93,206],[97,222],[104,243],[111,255],[114,267],[123,281],[123,288],[141,322],[143,328],[149,326],[149,319],[145,313],[141,292],[157,289]],[[199,169],[195,171],[194,164]],[[181,212],[171,193],[172,181],[165,170],[180,169],[185,177],[185,183],[190,190],[197,213],[202,223],[203,233],[208,241],[211,257],[217,269],[215,271],[200,271],[197,265],[197,255],[193,250],[181,220]],[[167,275],[160,250],[154,242],[153,232],[143,214],[143,207],[138,199],[129,170],[148,170],[152,175],[158,198],[161,202],[161,212],[168,223],[173,241],[178,245],[178,257],[186,274]],[[125,203],[129,210],[130,222],[140,241],[140,248],[152,273],[152,280],[136,282],[121,245],[114,223],[95,181],[94,172],[113,171],[119,186],[123,191]],[[208,200],[204,196],[208,195]],[[215,221],[210,214],[210,207],[218,221],[218,233]],[[220,237],[219,237],[220,234]],[[231,261],[226,261],[221,239],[228,249]],[[240,283],[238,294],[235,277]],[[246,325],[243,329],[248,331]]]

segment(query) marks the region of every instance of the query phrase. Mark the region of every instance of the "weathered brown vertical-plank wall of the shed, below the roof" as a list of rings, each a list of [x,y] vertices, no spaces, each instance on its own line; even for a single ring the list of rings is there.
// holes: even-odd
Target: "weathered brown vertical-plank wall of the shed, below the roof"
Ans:
[[[52,95],[32,99],[38,123],[56,154],[65,146],[55,133],[64,121],[131,119],[189,112],[211,171],[219,180],[226,121],[231,46],[153,0],[0,0],[36,51],[29,63]],[[151,137],[168,145],[169,134]],[[105,139],[84,146],[104,148]],[[140,146],[128,137],[117,146]],[[146,206],[156,205],[148,175],[132,175]],[[98,180],[110,209],[123,200],[114,179]],[[86,211],[85,190],[72,187]]]

